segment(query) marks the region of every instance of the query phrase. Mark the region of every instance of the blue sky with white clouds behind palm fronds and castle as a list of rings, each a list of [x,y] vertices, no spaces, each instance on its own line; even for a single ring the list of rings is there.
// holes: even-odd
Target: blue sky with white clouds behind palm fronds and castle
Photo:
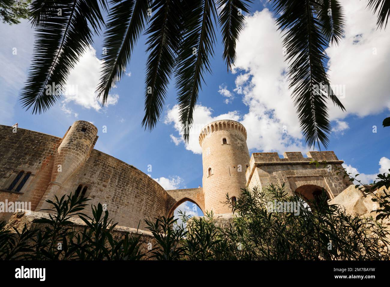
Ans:
[[[330,80],[344,90],[340,98],[347,112],[330,103],[333,132],[328,150],[335,151],[351,172],[361,173],[363,181],[375,179],[390,168],[390,128],[381,123],[390,116],[390,34],[376,30],[376,19],[365,10],[364,1],[342,0],[346,8],[346,37],[338,47],[326,50],[330,56]],[[255,1],[237,45],[234,73],[227,73],[222,60],[222,41],[211,61],[213,74],[199,93],[195,123],[206,125],[214,119],[241,121],[248,131],[252,152],[302,151],[305,146],[298,119],[287,89],[281,35],[276,31],[271,7]],[[218,31],[217,31],[218,32]],[[178,131],[174,80],[168,89],[166,106],[152,132],[142,128],[145,90],[145,37],[138,41],[126,75],[112,89],[110,105],[99,107],[94,88],[99,78],[102,37],[69,77],[78,87],[78,98],[58,101],[48,112],[32,115],[21,108],[18,94],[28,75],[34,31],[27,22],[0,24],[0,124],[13,125],[62,137],[78,119],[92,122],[99,130],[95,148],[131,164],[156,179],[166,189],[202,185],[202,157],[197,144],[198,131],[190,133],[185,145]],[[16,55],[12,52],[16,48]],[[241,90],[241,93],[239,91]],[[103,126],[107,133],[103,133]],[[373,132],[376,126],[376,132]],[[287,128],[287,133],[283,133]],[[152,171],[147,171],[148,165]],[[184,206],[184,205],[183,205]],[[192,209],[192,205],[185,205]],[[196,214],[197,212],[195,212]]]

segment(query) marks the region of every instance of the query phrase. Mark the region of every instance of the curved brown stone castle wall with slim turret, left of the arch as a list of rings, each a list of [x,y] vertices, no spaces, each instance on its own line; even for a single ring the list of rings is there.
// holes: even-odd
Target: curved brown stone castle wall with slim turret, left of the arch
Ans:
[[[49,207],[46,199],[87,187],[89,205],[104,204],[119,225],[144,228],[144,219],[165,215],[167,192],[137,168],[94,150],[97,129],[76,121],[61,139],[31,130],[0,125],[0,201],[31,202],[31,209]],[[61,168],[59,169],[60,166]],[[20,171],[31,176],[20,192],[7,191]],[[85,213],[92,215],[90,207]],[[7,220],[9,214],[0,214]]]

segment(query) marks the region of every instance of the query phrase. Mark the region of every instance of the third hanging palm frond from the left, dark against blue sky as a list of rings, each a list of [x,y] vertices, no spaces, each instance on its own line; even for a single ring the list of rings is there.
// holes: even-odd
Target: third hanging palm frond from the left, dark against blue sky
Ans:
[[[146,66],[145,117],[142,125],[152,130],[163,110],[167,86],[174,70],[176,53],[181,42],[180,0],[156,0],[155,14],[146,31],[149,53]]]

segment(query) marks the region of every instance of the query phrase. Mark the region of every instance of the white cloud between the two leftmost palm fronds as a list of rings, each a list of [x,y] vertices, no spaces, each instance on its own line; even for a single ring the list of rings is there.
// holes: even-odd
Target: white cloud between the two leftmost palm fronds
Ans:
[[[63,103],[74,102],[87,109],[101,109],[101,102],[96,98],[96,87],[99,84],[102,61],[97,59],[96,50],[90,47],[80,57],[80,61],[71,71],[63,96]],[[109,94],[107,105],[115,105],[119,100],[118,94]]]

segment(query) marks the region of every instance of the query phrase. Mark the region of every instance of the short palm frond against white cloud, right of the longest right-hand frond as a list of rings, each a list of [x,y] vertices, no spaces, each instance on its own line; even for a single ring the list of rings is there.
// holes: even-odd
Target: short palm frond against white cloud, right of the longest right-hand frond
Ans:
[[[317,6],[321,32],[332,45],[339,45],[344,36],[345,14],[339,0],[322,0]]]

